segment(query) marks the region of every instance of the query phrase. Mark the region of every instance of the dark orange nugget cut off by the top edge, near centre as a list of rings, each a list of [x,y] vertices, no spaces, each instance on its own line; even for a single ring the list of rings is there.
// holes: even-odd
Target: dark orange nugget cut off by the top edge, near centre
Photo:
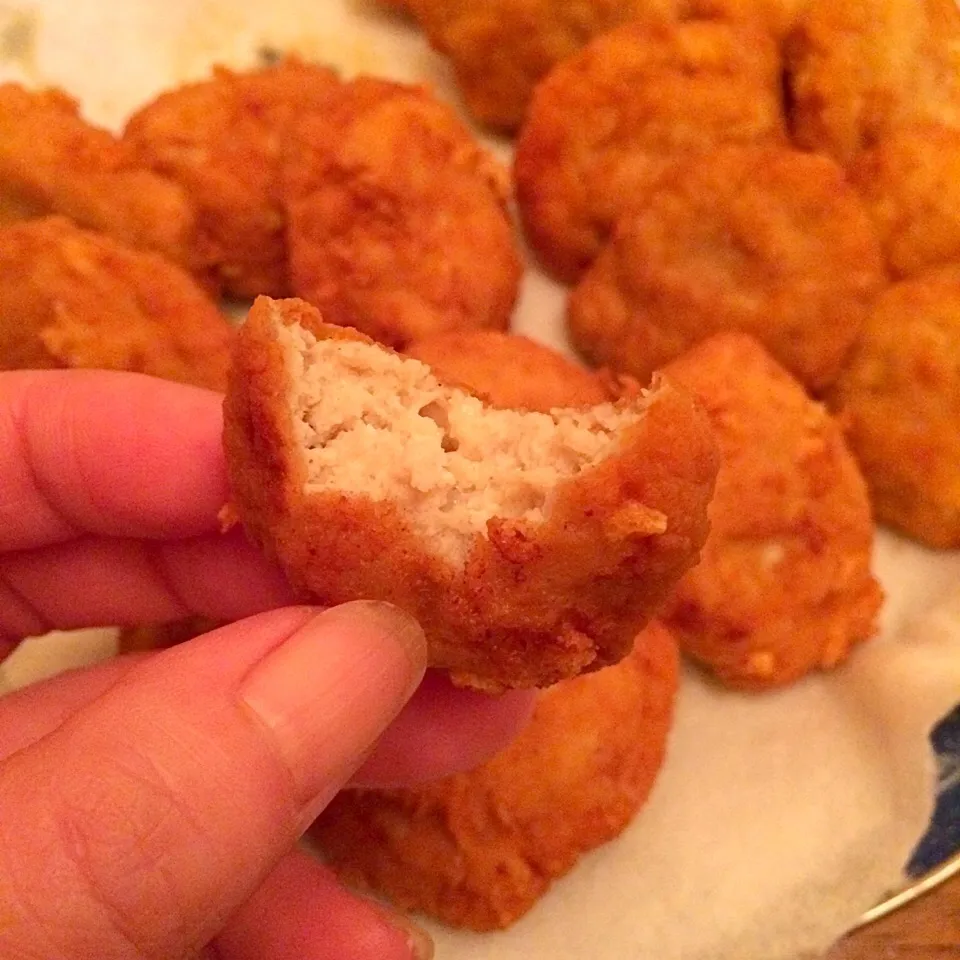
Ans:
[[[598,34],[630,20],[669,22],[679,0],[408,0],[430,42],[450,58],[470,112],[520,126],[537,82]]]

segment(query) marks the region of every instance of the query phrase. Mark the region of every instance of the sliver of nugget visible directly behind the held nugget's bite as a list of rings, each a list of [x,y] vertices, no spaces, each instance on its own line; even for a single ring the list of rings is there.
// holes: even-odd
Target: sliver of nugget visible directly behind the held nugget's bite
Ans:
[[[550,347],[499,330],[440,333],[405,351],[442,380],[461,383],[495,407],[541,410],[591,407],[611,399],[595,373]]]

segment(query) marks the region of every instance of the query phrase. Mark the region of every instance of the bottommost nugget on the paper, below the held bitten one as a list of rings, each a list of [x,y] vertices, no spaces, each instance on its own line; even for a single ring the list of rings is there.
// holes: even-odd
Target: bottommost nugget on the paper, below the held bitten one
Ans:
[[[621,663],[542,692],[526,729],[482,766],[415,789],[345,791],[310,835],[348,883],[401,908],[509,926],[643,806],[677,681],[676,641],[654,622]]]

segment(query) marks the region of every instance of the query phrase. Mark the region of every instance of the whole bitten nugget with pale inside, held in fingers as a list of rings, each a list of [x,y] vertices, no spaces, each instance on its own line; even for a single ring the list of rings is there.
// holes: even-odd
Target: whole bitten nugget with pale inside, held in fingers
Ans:
[[[431,664],[481,688],[621,659],[706,537],[715,442],[666,381],[497,410],[302,301],[260,298],[225,416],[235,513],[294,586],[403,607]]]

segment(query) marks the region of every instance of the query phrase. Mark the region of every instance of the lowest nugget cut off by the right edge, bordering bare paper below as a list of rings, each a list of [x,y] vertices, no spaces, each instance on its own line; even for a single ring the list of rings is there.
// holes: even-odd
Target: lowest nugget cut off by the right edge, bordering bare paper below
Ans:
[[[960,547],[960,266],[891,286],[830,403],[881,523]]]

